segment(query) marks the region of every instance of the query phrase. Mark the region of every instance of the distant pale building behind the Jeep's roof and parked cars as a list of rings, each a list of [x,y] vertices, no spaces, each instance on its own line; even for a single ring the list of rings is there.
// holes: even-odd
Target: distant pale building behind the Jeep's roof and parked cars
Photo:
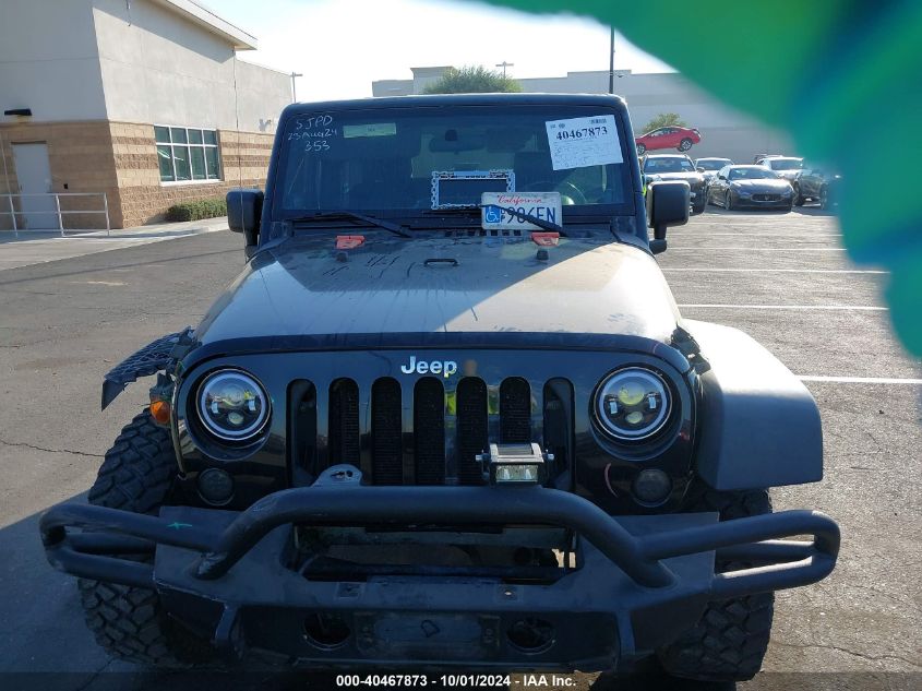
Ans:
[[[412,79],[372,82],[374,96],[421,94],[448,68],[412,68]],[[702,132],[701,144],[688,155],[692,158],[721,156],[738,163],[752,163],[758,153],[791,154],[787,135],[757,120],[735,111],[709,96],[675,72],[633,74],[615,71],[614,93],[627,102],[635,134],[663,112],[678,114],[690,127]],[[546,94],[606,94],[609,72],[567,72],[566,76],[522,79],[526,92]],[[669,153],[669,152],[651,152]]]

